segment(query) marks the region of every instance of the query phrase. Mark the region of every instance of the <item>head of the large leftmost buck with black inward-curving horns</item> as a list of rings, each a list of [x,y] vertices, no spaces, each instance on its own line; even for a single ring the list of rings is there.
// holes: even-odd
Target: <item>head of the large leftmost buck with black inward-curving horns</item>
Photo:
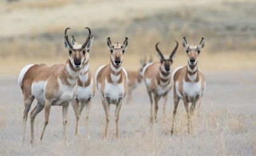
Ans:
[[[74,66],[74,68],[81,68],[84,62],[88,62],[88,59],[89,59],[88,52],[91,46],[93,45],[93,35],[91,35],[90,28],[85,27],[85,29],[89,30],[89,35],[87,37],[87,40],[85,40],[85,43],[78,44],[74,40],[74,37],[72,37],[72,44],[71,44],[68,39],[68,35],[66,35],[66,31],[68,29],[69,27],[67,27],[65,30],[64,45],[69,52],[69,60],[71,64]]]

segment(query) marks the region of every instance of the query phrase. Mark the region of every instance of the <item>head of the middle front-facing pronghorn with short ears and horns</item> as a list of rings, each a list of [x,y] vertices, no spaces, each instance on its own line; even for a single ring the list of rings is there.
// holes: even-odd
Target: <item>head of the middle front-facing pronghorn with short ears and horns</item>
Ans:
[[[115,66],[121,66],[124,58],[124,51],[127,49],[129,43],[129,39],[126,37],[126,40],[124,40],[123,45],[116,43],[113,44],[110,41],[110,38],[107,38],[107,47],[110,49],[111,52],[111,60],[113,65]]]

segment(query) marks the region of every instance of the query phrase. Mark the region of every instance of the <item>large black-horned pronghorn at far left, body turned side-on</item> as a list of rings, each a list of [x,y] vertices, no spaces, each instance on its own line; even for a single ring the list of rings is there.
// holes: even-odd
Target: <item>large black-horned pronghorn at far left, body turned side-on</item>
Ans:
[[[66,123],[68,115],[69,101],[74,97],[77,90],[77,79],[85,61],[85,53],[91,48],[93,42],[91,33],[83,45],[73,46],[68,36],[64,37],[65,48],[69,52],[69,58],[65,65],[54,65],[48,67],[44,64],[27,65],[21,69],[18,78],[18,85],[23,91],[24,98],[24,116],[23,116],[23,137],[24,141],[27,113],[30,110],[34,99],[37,99],[37,105],[30,114],[31,143],[34,142],[34,120],[38,113],[44,108],[44,127],[40,135],[41,141],[44,130],[49,121],[49,113],[52,105],[62,107],[64,139],[67,141]],[[86,29],[90,29],[86,27]]]

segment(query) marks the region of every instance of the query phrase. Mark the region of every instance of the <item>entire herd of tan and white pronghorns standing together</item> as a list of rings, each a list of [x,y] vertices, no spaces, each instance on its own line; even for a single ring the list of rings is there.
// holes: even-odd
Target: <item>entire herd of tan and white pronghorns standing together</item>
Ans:
[[[89,34],[83,44],[78,44],[74,36],[69,41],[65,29],[63,39],[64,46],[68,51],[68,59],[65,65],[46,66],[44,64],[27,65],[21,69],[18,77],[18,85],[23,92],[24,115],[22,141],[24,141],[27,114],[32,102],[37,99],[37,105],[30,114],[31,140],[34,143],[34,121],[38,113],[44,108],[44,126],[41,131],[39,142],[43,138],[44,130],[49,122],[49,113],[52,105],[62,106],[63,114],[63,132],[64,140],[67,141],[67,115],[69,103],[71,103],[76,116],[75,136],[80,135],[79,119],[82,110],[86,110],[87,137],[90,138],[89,112],[91,99],[94,96],[96,87],[101,96],[102,106],[105,111],[105,132],[107,137],[108,122],[110,116],[110,104],[116,105],[115,122],[116,122],[116,139],[119,138],[118,120],[121,105],[124,97],[128,94],[127,103],[131,101],[132,90],[144,80],[150,99],[150,123],[157,121],[158,101],[161,97],[165,98],[163,105],[163,115],[165,117],[165,105],[168,93],[173,86],[174,111],[172,116],[171,135],[174,132],[174,121],[177,106],[182,99],[188,119],[188,133],[190,127],[193,132],[193,125],[190,124],[191,116],[196,108],[199,108],[205,89],[205,79],[198,68],[198,59],[201,49],[204,48],[204,38],[198,45],[189,45],[183,37],[182,45],[187,52],[187,66],[176,68],[173,72],[171,65],[174,61],[179,43],[176,41],[176,47],[170,55],[163,55],[158,48],[159,42],[155,45],[160,62],[152,62],[141,59],[141,66],[138,71],[126,71],[122,67],[124,53],[129,44],[126,37],[123,44],[118,42],[112,43],[108,37],[106,40],[107,47],[110,50],[110,64],[99,67],[96,75],[89,69],[89,51],[93,45],[93,35],[88,27]],[[185,63],[185,62],[184,62]],[[128,93],[127,93],[128,92]],[[152,96],[153,94],[153,96]],[[154,115],[152,114],[154,98]],[[190,109],[188,103],[191,102]]]

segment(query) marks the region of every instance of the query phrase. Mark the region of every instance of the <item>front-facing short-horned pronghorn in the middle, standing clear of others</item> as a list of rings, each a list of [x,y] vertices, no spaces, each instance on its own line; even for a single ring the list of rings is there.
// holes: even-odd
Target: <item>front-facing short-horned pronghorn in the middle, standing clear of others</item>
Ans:
[[[110,65],[101,66],[96,72],[96,84],[101,95],[101,102],[106,115],[106,127],[104,137],[107,137],[107,128],[110,114],[110,104],[116,105],[115,122],[116,122],[116,138],[119,138],[118,119],[123,98],[126,96],[127,90],[127,73],[122,68],[124,51],[128,46],[128,38],[123,45],[112,44],[110,38],[107,38],[107,46],[110,49]]]

